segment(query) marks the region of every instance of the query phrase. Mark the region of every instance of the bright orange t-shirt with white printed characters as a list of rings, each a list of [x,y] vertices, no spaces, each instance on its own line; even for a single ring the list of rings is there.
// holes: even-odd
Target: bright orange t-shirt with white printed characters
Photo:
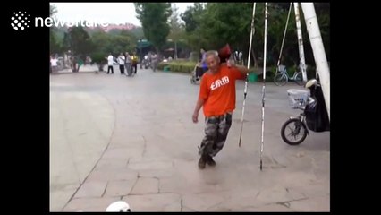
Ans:
[[[221,65],[216,74],[204,73],[199,86],[199,98],[205,99],[205,116],[220,116],[235,109],[235,80],[244,80],[245,74],[235,67]]]

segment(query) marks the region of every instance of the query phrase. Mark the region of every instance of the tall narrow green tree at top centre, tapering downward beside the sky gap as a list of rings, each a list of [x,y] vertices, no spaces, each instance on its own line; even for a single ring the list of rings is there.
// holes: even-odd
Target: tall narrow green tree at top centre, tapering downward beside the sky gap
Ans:
[[[168,19],[171,16],[170,3],[135,3],[137,18],[140,20],[144,36],[157,47],[165,45],[170,32]]]

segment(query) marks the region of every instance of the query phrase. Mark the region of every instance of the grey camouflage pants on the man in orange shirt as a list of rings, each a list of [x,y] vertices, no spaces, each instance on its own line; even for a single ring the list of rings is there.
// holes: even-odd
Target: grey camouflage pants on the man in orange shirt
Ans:
[[[205,137],[199,147],[199,155],[208,154],[214,157],[224,147],[232,125],[232,114],[206,117],[205,124]]]

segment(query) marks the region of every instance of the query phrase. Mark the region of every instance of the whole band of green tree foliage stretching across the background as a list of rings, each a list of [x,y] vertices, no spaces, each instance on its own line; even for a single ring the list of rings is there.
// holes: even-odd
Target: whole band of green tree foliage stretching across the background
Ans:
[[[71,49],[75,54],[118,55],[120,52],[133,51],[138,39],[148,39],[157,50],[168,47],[181,47],[182,51],[199,51],[199,48],[219,49],[229,43],[233,50],[249,56],[250,26],[253,3],[194,3],[180,16],[174,4],[135,3],[137,17],[142,28],[134,30],[102,29],[84,30],[82,27],[69,29],[50,29],[50,50],[53,53]],[[171,5],[173,6],[171,8]],[[330,57],[330,4],[315,3],[318,24],[326,49],[327,60]],[[276,64],[282,46],[284,28],[289,13],[289,3],[269,3],[267,20],[267,64]],[[50,7],[50,15],[56,13]],[[255,12],[255,33],[252,40],[252,63],[261,64],[264,49],[265,4],[258,3]],[[306,64],[315,64],[309,42],[304,16],[301,13],[301,30]],[[183,23],[179,21],[179,17]],[[89,31],[89,33],[87,33]],[[64,32],[64,36],[63,36]],[[168,42],[172,39],[172,42]],[[250,63],[251,64],[251,63]],[[290,11],[290,20],[286,29],[282,64],[299,64],[299,48],[296,32],[294,8]]]

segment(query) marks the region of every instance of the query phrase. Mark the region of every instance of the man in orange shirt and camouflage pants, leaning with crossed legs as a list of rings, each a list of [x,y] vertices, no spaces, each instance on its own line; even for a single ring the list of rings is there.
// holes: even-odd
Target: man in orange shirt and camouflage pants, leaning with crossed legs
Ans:
[[[206,164],[215,166],[213,157],[222,150],[232,125],[235,109],[235,80],[245,80],[249,70],[229,62],[220,64],[216,51],[207,52],[207,73],[204,73],[199,86],[199,99],[192,116],[193,122],[199,120],[199,109],[203,107],[205,116],[205,137],[199,147],[199,168]]]

